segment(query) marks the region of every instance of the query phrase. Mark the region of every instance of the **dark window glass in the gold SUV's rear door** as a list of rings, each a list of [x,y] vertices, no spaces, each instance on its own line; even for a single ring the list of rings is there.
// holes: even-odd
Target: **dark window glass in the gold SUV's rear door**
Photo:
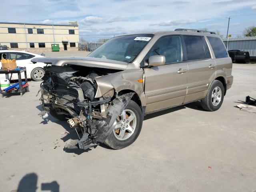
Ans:
[[[200,36],[183,36],[187,60],[205,59],[204,45]]]

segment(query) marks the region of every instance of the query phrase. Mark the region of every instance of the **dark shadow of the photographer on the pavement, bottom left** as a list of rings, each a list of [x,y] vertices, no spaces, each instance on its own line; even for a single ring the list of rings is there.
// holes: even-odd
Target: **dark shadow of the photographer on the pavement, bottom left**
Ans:
[[[38,176],[35,173],[26,174],[19,182],[18,189],[12,190],[17,192],[36,192]],[[42,191],[59,192],[60,186],[58,182],[53,181],[50,183],[41,184]]]

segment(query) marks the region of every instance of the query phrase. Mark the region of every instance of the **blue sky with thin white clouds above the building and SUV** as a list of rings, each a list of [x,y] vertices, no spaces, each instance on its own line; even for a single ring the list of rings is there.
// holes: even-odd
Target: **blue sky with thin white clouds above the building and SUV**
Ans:
[[[80,37],[99,38],[176,28],[219,30],[243,36],[256,26],[256,0],[1,0],[0,21],[68,24],[78,21]]]

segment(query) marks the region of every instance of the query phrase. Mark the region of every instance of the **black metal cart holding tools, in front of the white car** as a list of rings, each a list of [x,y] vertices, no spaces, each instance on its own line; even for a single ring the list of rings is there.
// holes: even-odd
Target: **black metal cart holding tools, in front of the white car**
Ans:
[[[25,84],[26,86],[22,85],[22,79],[21,79],[21,73],[24,72],[24,76],[25,76]],[[28,79],[27,79],[27,72],[26,72],[26,67],[22,67],[22,68],[18,68],[15,70],[0,70],[0,74],[5,74],[5,78],[8,80],[12,80],[12,74],[17,73],[18,74],[18,84],[19,84],[19,88],[18,89],[12,89],[8,92],[3,92],[3,90],[0,90],[0,94],[2,94],[2,97],[5,94],[10,94],[10,93],[20,93],[20,95],[22,96],[25,92],[29,92],[28,89]],[[9,74],[11,74],[11,77],[9,76]]]

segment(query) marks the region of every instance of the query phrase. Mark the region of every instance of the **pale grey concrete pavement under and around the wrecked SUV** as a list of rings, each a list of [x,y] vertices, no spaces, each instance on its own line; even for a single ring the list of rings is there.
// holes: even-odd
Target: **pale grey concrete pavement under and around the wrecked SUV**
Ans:
[[[0,191],[255,192],[256,114],[234,106],[256,97],[256,64],[234,64],[232,74],[220,110],[195,102],[151,114],[131,146],[88,152],[63,150],[76,134],[42,121],[40,82],[29,82],[24,96],[0,98]]]

